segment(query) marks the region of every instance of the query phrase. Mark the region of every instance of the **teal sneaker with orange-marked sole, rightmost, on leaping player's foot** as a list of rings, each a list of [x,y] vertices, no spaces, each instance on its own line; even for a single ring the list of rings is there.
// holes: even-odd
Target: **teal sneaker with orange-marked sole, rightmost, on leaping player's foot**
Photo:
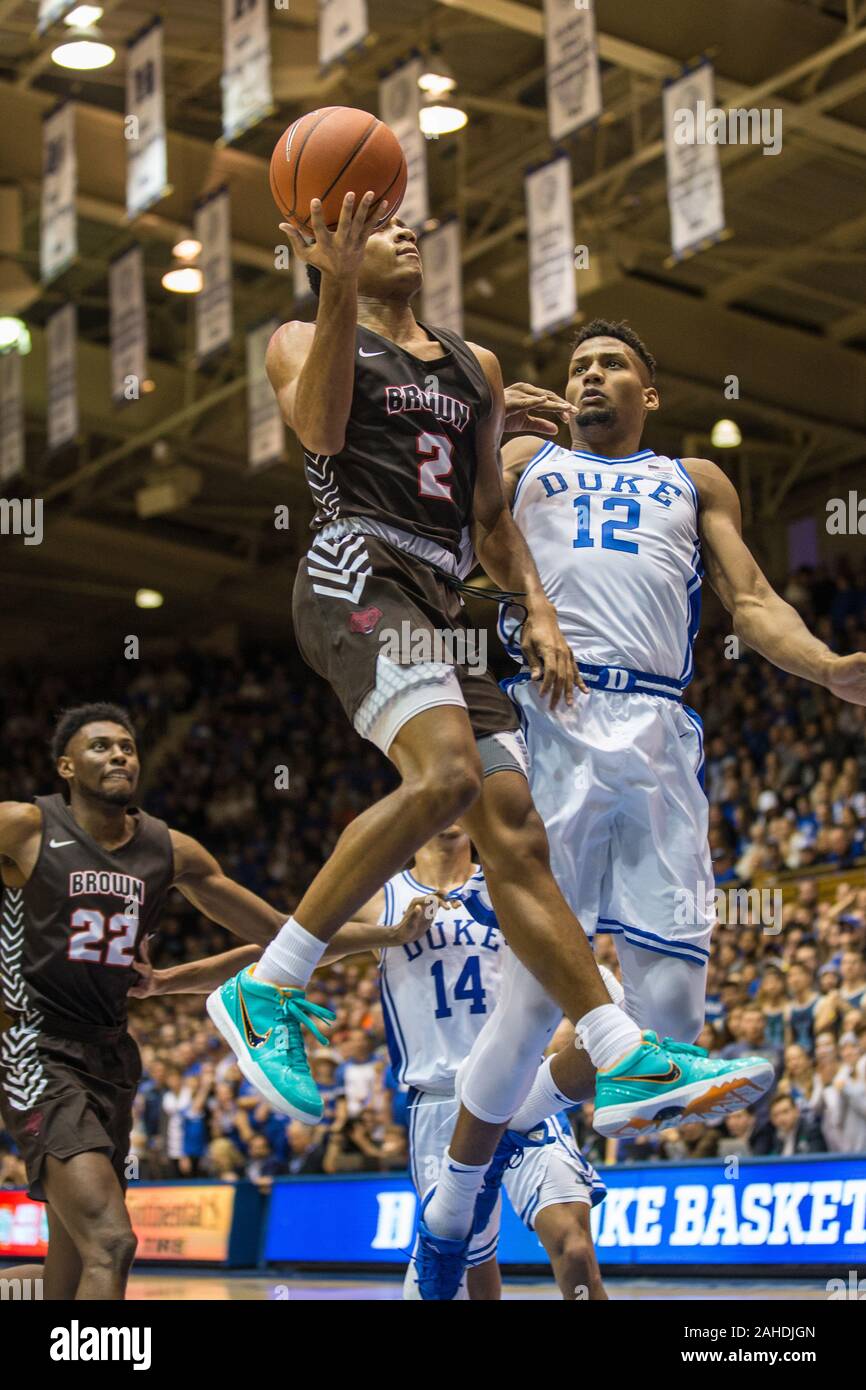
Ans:
[[[710,1058],[702,1047],[645,1031],[628,1056],[595,1081],[594,1129],[634,1138],[681,1120],[716,1120],[769,1091],[773,1065],[763,1056]]]

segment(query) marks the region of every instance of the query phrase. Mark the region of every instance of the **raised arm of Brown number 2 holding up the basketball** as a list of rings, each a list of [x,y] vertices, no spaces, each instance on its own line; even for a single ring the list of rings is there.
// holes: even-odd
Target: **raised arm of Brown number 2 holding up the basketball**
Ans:
[[[354,389],[357,277],[374,231],[367,222],[374,199],[374,193],[364,193],[356,211],[354,193],[346,193],[334,232],[325,225],[320,199],[313,199],[314,240],[309,243],[289,222],[279,224],[297,259],[321,271],[316,324],[284,324],[265,356],[282,418],[310,453],[339,453],[346,442]]]

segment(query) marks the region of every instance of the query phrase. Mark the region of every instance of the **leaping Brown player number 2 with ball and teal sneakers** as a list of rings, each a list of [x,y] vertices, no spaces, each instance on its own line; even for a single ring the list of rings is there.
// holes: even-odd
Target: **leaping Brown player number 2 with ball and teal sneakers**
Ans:
[[[464,634],[455,592],[467,537],[495,584],[523,595],[521,646],[538,695],[570,706],[574,657],[506,505],[499,459],[505,423],[496,357],[410,307],[421,286],[414,232],[368,221],[375,193],[346,193],[331,231],[313,200],[307,240],[284,231],[318,289],[314,324],[285,324],[267,357],[285,421],[297,435],[316,500],[316,537],[293,595],[306,660],[338,694],[361,737],[400,774],[389,796],[343,831],[328,863],[252,976],[229,980],[209,1012],[249,1080],[277,1109],[321,1115],[297,1026],[286,1006],[303,994],[334,933],[439,830],[460,820],[477,847],[506,940],[542,986],[542,1005],[513,1015],[513,1031],[485,1068],[463,1077],[464,1105],[423,1223],[423,1297],[456,1291],[485,1169],[527,1095],[556,1026],[548,995],[575,1023],[599,1070],[596,1127],[621,1113],[655,1126],[656,1112],[710,1088],[753,1084],[771,1068],[677,1056],[644,1040],[610,1002],[592,951],[548,862],[527,784],[512,703],[493,677],[466,664],[393,662],[379,634],[409,628],[431,649]],[[556,409],[562,402],[555,398]],[[252,1045],[242,1013],[259,1040]],[[285,1027],[281,1027],[285,1024]],[[617,1080],[621,1077],[621,1081]],[[439,1255],[443,1257],[438,1262]],[[459,1268],[457,1268],[459,1266]]]

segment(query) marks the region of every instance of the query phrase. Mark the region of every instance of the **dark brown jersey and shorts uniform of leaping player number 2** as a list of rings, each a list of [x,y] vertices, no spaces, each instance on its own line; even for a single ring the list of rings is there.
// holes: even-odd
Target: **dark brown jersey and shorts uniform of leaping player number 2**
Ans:
[[[434,646],[449,630],[466,632],[463,603],[438,571],[461,574],[471,549],[475,431],[491,393],[461,338],[425,331],[445,348],[432,361],[359,325],[345,448],[304,450],[320,534],[297,570],[295,635],[353,721],[375,685],[379,634],[428,632]],[[366,530],[352,530],[359,523]],[[455,671],[477,738],[517,728],[489,673]]]

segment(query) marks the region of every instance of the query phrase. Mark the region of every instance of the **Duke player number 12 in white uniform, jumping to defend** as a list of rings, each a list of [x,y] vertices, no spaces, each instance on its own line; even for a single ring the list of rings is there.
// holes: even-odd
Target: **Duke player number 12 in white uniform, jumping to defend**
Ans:
[[[589,937],[613,934],[630,1016],[692,1042],[705,1019],[714,892],[701,720],[683,703],[703,570],[737,637],[781,670],[865,705],[866,653],[831,652],[776,594],[717,464],[641,449],[659,392],[655,360],[627,324],[580,329],[566,399],[570,449],[524,435],[502,453],[514,520],[591,692],[552,710],[525,663],[505,684],[556,881]],[[506,613],[506,637],[507,627]],[[512,655],[521,659],[516,646]],[[562,769],[571,771],[563,778]],[[524,974],[521,988],[531,1008],[538,984]],[[507,1015],[493,1013],[480,1045],[496,1051],[507,1037]],[[587,1055],[564,1048],[513,1127],[531,1130],[591,1086]],[[695,1118],[708,1118],[703,1105]]]

